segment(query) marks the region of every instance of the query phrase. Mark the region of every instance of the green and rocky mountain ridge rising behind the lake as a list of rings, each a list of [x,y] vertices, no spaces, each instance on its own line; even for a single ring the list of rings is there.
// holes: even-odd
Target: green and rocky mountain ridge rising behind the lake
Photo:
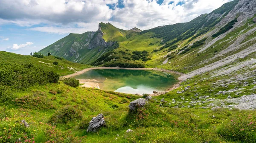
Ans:
[[[144,31],[99,23],[98,31],[69,34],[39,52],[83,64],[186,73],[255,44],[255,14],[255,0],[234,0],[190,22]]]

